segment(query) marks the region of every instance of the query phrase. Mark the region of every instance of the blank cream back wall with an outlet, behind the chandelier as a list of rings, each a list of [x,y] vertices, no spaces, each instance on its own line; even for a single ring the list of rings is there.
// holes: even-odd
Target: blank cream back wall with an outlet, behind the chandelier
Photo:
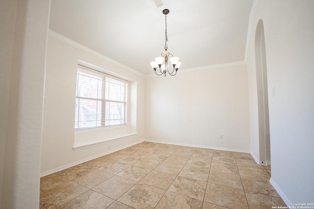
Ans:
[[[245,64],[149,77],[145,89],[145,139],[250,151]]]

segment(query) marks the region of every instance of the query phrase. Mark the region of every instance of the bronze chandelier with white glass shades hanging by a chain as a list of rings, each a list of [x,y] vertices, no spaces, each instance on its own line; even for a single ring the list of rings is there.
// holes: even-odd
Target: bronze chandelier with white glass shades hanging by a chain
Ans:
[[[169,53],[168,46],[167,46],[167,14],[169,14],[169,9],[164,9],[162,13],[165,15],[165,23],[166,23],[166,35],[165,35],[165,47],[164,51],[161,53],[161,57],[156,57],[155,61],[150,62],[152,68],[155,70],[156,75],[164,75],[166,77],[166,72],[168,72],[170,75],[177,74],[177,71],[179,70],[181,66],[181,62],[179,62],[179,57],[174,57],[172,54]],[[169,62],[171,63],[173,70],[169,70]],[[157,68],[159,68],[160,74],[156,72]]]

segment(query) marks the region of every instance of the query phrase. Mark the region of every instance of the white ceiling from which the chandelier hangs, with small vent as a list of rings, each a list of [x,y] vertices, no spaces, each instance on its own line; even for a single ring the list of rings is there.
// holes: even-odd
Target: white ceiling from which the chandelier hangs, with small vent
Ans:
[[[50,29],[144,74],[168,50],[181,70],[244,60],[253,0],[52,0]]]

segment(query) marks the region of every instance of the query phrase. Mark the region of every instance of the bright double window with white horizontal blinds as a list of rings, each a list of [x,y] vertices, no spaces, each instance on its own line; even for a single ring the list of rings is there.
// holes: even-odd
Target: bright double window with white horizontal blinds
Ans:
[[[127,124],[128,83],[78,65],[75,130]]]

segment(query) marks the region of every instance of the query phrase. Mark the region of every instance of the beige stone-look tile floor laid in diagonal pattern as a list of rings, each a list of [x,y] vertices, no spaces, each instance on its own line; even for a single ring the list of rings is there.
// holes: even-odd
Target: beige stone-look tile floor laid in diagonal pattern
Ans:
[[[142,142],[42,177],[40,209],[286,206],[250,154]]]

